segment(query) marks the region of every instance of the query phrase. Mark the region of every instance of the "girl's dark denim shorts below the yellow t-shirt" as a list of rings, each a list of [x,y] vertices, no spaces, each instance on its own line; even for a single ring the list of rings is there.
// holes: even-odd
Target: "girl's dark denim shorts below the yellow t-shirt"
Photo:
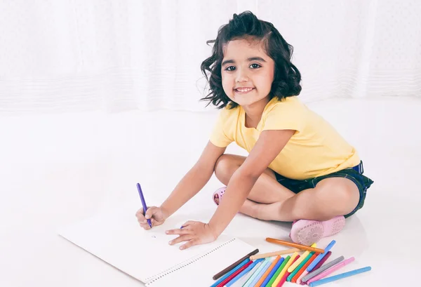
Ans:
[[[363,161],[361,161],[358,166],[354,166],[353,168],[345,168],[342,171],[337,171],[328,175],[321,175],[316,178],[309,178],[307,180],[292,180],[290,178],[285,178],[278,173],[275,173],[275,175],[276,180],[281,185],[290,189],[290,191],[296,194],[304,189],[316,187],[317,183],[326,178],[348,178],[349,180],[352,180],[352,182],[354,182],[359,189],[360,199],[356,208],[354,208],[352,212],[345,215],[345,218],[348,218],[363,207],[364,201],[366,200],[367,189],[370,187],[370,185],[373,184],[373,180],[370,180],[370,178],[367,178],[365,175],[363,175],[363,172]]]

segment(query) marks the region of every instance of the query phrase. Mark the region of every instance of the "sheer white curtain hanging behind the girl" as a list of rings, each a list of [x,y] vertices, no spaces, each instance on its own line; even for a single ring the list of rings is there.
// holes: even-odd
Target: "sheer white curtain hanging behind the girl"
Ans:
[[[294,46],[307,102],[421,95],[419,0],[0,0],[0,114],[203,111],[206,41],[245,10]]]

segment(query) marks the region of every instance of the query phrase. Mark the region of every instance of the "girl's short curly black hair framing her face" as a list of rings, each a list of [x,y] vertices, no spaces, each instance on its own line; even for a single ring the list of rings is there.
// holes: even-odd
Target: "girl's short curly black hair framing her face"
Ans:
[[[301,74],[297,67],[290,62],[293,46],[283,39],[272,23],[259,20],[250,11],[245,11],[239,15],[234,14],[227,25],[220,27],[216,39],[206,42],[207,44],[214,43],[212,55],[201,63],[201,72],[208,81],[210,93],[201,100],[208,101],[208,105],[212,103],[218,109],[227,105],[229,105],[229,109],[238,106],[236,102],[232,102],[228,98],[222,88],[221,76],[221,62],[224,58],[222,48],[227,42],[236,39],[263,41],[265,52],[274,60],[274,81],[269,93],[270,99],[276,96],[282,100],[300,94]],[[209,77],[207,72],[210,72]]]

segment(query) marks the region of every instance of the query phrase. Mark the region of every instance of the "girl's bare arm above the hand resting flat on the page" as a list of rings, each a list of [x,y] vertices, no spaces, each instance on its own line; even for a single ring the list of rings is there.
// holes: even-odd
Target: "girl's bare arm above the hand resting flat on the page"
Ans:
[[[250,151],[247,159],[229,180],[224,200],[220,201],[215,214],[208,223],[215,237],[218,237],[229,225],[246,201],[255,182],[278,156],[294,133],[295,131],[292,130],[274,130],[263,131],[260,134],[258,142]]]

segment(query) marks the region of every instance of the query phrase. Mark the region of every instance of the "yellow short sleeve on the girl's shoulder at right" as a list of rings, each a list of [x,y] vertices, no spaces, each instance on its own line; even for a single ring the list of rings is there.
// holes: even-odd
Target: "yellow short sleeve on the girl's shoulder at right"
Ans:
[[[277,102],[266,114],[265,126],[262,131],[268,130],[295,130],[302,131],[305,126],[306,109],[299,102],[287,100]]]

